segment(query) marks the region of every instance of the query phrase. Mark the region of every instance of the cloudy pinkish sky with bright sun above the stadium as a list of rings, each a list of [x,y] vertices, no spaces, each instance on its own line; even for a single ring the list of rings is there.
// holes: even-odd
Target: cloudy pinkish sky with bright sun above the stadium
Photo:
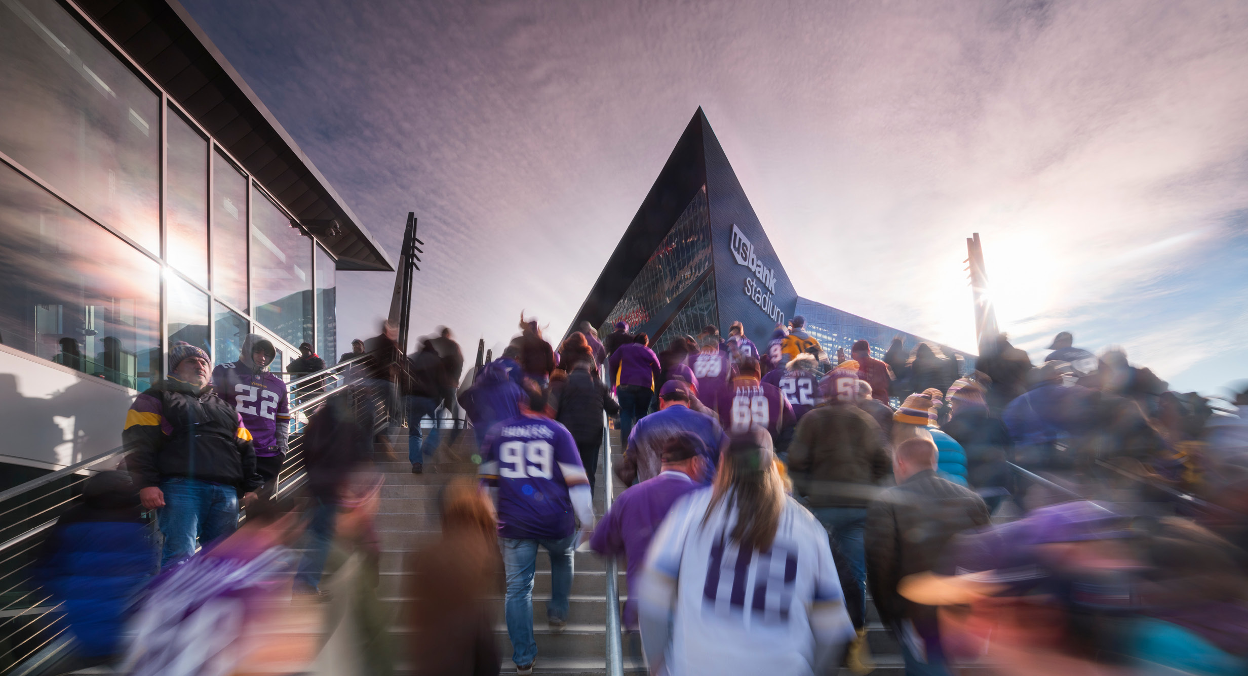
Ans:
[[[978,232],[1033,362],[1248,378],[1248,2],[182,1],[469,359],[563,334],[701,106],[807,298],[975,352]]]

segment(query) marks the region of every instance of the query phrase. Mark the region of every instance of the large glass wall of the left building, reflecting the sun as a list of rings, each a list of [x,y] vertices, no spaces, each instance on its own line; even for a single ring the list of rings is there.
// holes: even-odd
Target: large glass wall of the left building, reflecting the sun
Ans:
[[[71,11],[0,0],[0,344],[140,390],[176,340],[334,362],[333,259]]]

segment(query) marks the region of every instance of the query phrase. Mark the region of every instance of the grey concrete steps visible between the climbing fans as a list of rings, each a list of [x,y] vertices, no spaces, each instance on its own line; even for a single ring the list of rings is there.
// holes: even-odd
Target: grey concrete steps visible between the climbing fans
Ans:
[[[393,430],[391,445],[394,449],[396,461],[382,463],[381,469],[387,473],[386,485],[382,488],[381,505],[377,514],[377,530],[381,538],[381,586],[379,596],[382,602],[392,612],[393,617],[399,616],[399,610],[404,604],[411,602],[403,597],[406,575],[403,571],[403,558],[407,551],[418,545],[422,538],[433,536],[438,531],[437,496],[441,485],[457,475],[474,475],[477,464],[472,456],[477,453],[475,442],[470,430],[466,430],[459,439],[442,448],[429,456],[426,455],[424,474],[412,474],[407,463],[407,435],[404,430]],[[447,430],[443,430],[446,433]],[[619,433],[613,430],[612,448],[615,451],[613,460],[620,461]],[[447,435],[443,434],[443,439]],[[614,493],[619,495],[623,486],[619,481],[613,481]],[[597,485],[603,485],[603,464],[599,463]],[[604,500],[599,490],[594,498],[594,510],[600,518],[604,513]],[[533,630],[538,644],[538,659],[534,667],[535,674],[559,674],[564,676],[602,675],[605,672],[607,652],[607,581],[605,563],[602,558],[588,551],[577,551],[574,561],[574,575],[572,582],[572,602],[568,611],[568,626],[562,634],[552,634],[547,626],[545,607],[550,599],[550,561],[544,550],[538,554],[537,574],[533,589]],[[620,590],[620,605],[628,586],[624,581],[624,565],[618,566],[618,580]],[[507,626],[502,622],[503,599],[497,599],[497,615],[499,625],[495,627],[498,644],[503,655],[502,674],[514,672],[510,661],[512,644],[507,636]],[[880,676],[900,676],[904,674],[900,649],[896,640],[884,629],[875,614],[875,607],[869,602],[869,642],[879,669],[874,672]],[[411,632],[409,627],[398,622],[392,625],[394,645],[398,646],[398,672],[411,671],[407,657],[403,654],[403,637]],[[640,640],[635,636],[625,635],[624,646],[624,672],[645,674],[641,659]],[[839,676],[850,676],[847,670],[840,670]]]

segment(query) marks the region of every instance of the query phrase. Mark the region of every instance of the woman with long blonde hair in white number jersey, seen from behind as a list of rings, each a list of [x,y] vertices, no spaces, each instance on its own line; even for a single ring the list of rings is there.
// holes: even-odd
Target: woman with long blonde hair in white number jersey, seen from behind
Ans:
[[[673,506],[639,587],[651,674],[824,674],[854,639],[827,533],[754,428]]]

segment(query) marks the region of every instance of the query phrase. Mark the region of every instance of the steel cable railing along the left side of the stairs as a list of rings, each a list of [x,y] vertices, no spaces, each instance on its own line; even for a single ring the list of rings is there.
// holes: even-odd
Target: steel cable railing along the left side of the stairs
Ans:
[[[361,407],[371,412],[373,432],[389,425],[387,412],[391,407],[377,402],[378,393],[364,383],[371,365],[368,359],[361,355],[287,383],[290,451],[278,474],[277,495],[292,494],[306,480],[302,429],[311,412],[336,390],[362,384],[353,388],[351,395],[373,399]],[[67,629],[57,622],[60,604],[45,605],[52,599],[42,594],[35,581],[39,549],[56,519],[81,500],[82,483],[99,471],[124,464],[124,454],[125,448],[119,447],[0,491],[0,672],[14,670],[36,654],[31,661],[46,662],[59,650],[67,650],[66,641],[55,642]]]

